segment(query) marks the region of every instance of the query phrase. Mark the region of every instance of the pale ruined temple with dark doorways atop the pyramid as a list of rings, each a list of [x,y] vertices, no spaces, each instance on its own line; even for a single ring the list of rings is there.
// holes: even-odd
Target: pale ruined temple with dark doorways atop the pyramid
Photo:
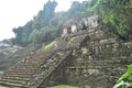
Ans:
[[[94,29],[99,25],[98,15],[69,20],[64,24],[63,35],[76,33],[81,30]]]

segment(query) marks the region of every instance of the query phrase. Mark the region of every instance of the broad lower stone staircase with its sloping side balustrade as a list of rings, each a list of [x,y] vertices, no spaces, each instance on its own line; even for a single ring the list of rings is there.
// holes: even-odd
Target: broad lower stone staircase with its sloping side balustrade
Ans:
[[[0,86],[9,88],[37,88],[72,51],[37,53],[28,58],[26,68],[19,61],[0,78]]]

